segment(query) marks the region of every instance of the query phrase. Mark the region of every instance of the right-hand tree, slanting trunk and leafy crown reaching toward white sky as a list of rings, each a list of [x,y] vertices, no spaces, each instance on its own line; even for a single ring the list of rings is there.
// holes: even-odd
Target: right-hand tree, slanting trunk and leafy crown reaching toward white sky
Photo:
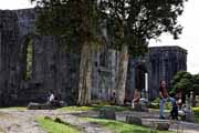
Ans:
[[[123,104],[128,55],[147,51],[150,39],[169,32],[177,39],[181,25],[177,17],[184,11],[185,0],[100,0],[103,17],[113,25],[113,47],[121,51],[117,71],[117,103]]]

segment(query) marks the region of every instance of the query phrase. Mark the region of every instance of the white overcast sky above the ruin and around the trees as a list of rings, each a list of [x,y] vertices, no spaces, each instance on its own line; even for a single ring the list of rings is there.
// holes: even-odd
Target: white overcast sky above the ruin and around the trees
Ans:
[[[24,9],[32,7],[30,0],[0,0],[0,9]],[[179,40],[172,40],[171,35],[164,34],[160,42],[151,41],[149,45],[179,45],[188,50],[188,71],[199,73],[199,0],[189,0],[185,4],[185,12],[179,17],[179,23],[184,27]]]

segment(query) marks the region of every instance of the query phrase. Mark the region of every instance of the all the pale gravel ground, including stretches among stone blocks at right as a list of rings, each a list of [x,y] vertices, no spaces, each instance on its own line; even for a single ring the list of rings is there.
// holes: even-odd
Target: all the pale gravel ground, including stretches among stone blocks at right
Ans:
[[[60,117],[65,122],[77,125],[85,133],[113,133],[95,123],[80,119],[80,116],[97,116],[98,112],[66,113],[57,110],[0,110],[0,133],[45,133],[35,122],[36,116]],[[117,120],[125,121],[126,115],[157,119],[156,112],[118,112]],[[184,133],[199,133],[199,124],[188,122],[174,122],[170,130]]]

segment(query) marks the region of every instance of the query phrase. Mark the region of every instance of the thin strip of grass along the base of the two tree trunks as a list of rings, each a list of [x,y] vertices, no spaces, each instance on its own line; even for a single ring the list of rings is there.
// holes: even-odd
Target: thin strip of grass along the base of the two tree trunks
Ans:
[[[100,111],[101,109],[108,109],[117,112],[129,110],[128,106],[116,106],[116,105],[65,106],[59,110],[65,112],[76,112],[76,111],[91,111],[91,110]]]

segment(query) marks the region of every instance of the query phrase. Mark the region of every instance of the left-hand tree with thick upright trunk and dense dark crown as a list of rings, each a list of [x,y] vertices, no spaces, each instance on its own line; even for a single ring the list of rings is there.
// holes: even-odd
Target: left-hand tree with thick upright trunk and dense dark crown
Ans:
[[[65,40],[64,47],[67,49],[80,49],[77,103],[90,104],[92,48],[98,40],[96,0],[32,0],[32,2],[36,3],[36,31],[39,33],[59,35]]]

